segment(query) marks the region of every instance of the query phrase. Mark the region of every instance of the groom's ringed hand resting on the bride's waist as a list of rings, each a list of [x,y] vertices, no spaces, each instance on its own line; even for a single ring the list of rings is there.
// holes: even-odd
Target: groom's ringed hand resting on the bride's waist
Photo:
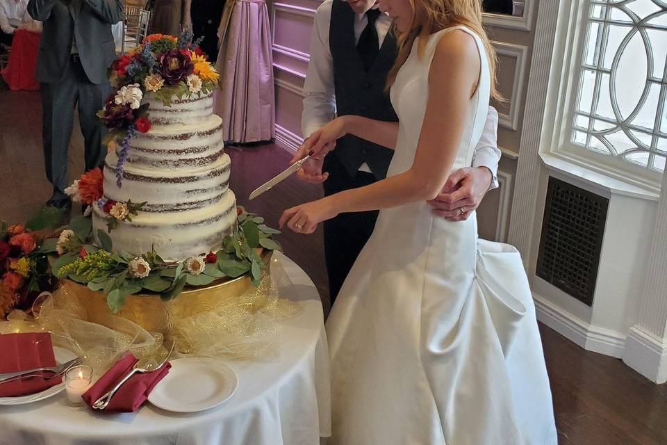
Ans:
[[[477,209],[491,186],[491,170],[486,167],[466,167],[456,170],[447,179],[443,191],[429,201],[433,213],[450,221],[468,219]]]

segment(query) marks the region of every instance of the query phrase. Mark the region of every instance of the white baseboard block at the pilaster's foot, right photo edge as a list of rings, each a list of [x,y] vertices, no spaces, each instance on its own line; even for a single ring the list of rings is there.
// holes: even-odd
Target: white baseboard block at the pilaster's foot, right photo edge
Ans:
[[[630,328],[623,362],[653,382],[667,382],[667,343],[641,326]]]

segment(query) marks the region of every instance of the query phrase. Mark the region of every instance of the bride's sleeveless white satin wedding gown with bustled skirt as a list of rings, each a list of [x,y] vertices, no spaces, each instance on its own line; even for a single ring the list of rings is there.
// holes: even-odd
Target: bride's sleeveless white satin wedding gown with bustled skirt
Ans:
[[[486,120],[479,87],[454,169],[469,166]],[[417,42],[391,89],[400,119],[388,175],[408,170],[443,30]],[[443,113],[446,113],[443,110]],[[380,211],[327,321],[330,444],[557,444],[535,309],[518,251],[477,238],[475,214],[450,222],[425,202]]]

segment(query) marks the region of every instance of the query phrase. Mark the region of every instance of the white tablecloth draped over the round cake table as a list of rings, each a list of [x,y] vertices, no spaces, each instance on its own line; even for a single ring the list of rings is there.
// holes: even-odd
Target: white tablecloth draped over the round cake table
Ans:
[[[331,434],[322,304],[306,273],[284,255],[275,256],[291,281],[280,294],[301,302],[303,312],[280,321],[279,359],[227,362],[239,376],[229,401],[198,414],[174,414],[149,403],[135,413],[102,414],[69,407],[63,391],[31,405],[0,406],[0,444],[319,444],[320,436]]]

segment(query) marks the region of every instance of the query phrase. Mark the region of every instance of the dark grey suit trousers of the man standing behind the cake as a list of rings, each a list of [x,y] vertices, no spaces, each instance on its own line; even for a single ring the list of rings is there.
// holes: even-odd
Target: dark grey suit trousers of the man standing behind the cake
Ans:
[[[47,179],[53,184],[53,199],[63,199],[67,188],[67,149],[72,136],[74,108],[79,109],[79,124],[85,144],[85,171],[104,163],[103,124],[97,117],[108,83],[95,85],[85,75],[81,60],[72,56],[63,79],[40,83],[42,95],[42,138]]]

